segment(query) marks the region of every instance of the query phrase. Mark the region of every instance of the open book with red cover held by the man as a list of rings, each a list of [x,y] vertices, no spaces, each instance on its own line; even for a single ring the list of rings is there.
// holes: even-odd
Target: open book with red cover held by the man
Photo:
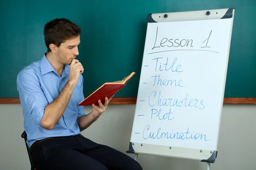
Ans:
[[[132,72],[130,75],[122,79],[121,81],[116,81],[116,82],[106,82],[102,86],[100,86],[96,91],[94,91],[90,96],[85,98],[82,102],[79,103],[79,106],[81,105],[96,105],[98,106],[98,100],[102,102],[104,105],[105,103],[105,97],[108,97],[108,99],[116,94],[121,88],[123,88],[126,83],[128,82],[131,77],[135,72]]]

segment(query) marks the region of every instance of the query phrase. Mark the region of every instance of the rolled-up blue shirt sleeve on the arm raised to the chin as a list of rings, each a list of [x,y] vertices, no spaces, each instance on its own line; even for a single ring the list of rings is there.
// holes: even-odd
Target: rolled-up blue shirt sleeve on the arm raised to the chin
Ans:
[[[41,89],[39,78],[31,72],[20,72],[17,76],[17,90],[24,116],[29,114],[40,125],[48,102]]]

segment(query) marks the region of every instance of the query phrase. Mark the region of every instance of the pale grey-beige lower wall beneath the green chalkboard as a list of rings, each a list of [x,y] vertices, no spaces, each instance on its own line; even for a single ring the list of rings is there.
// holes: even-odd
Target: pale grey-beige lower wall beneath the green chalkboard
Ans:
[[[135,105],[110,105],[100,119],[82,132],[95,142],[125,151],[131,136]],[[90,112],[90,107],[85,107]],[[256,170],[256,105],[224,105],[218,155],[211,170]],[[210,121],[210,120],[209,120]],[[29,170],[19,104],[0,105],[0,170]],[[128,154],[134,158],[133,154]],[[139,155],[144,170],[207,170],[204,162]]]

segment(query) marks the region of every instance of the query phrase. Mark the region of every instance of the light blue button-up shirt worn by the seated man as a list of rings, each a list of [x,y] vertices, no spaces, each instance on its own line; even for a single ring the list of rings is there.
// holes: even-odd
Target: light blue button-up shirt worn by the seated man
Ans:
[[[55,136],[81,134],[76,119],[84,115],[84,107],[77,106],[83,99],[83,77],[80,74],[70,102],[63,116],[52,130],[44,129],[40,123],[44,108],[60,94],[69,77],[69,66],[64,66],[60,76],[44,54],[41,60],[23,68],[17,76],[17,90],[24,116],[24,129],[29,147],[36,141]],[[54,113],[53,113],[54,114]]]

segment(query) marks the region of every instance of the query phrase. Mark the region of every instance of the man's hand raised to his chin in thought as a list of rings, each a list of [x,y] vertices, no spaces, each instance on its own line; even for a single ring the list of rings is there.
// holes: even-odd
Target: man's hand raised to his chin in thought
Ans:
[[[77,59],[73,59],[73,61],[70,64],[70,72],[69,72],[69,78],[68,81],[72,82],[76,85],[76,83],[79,80],[80,74],[84,72],[84,67]]]

